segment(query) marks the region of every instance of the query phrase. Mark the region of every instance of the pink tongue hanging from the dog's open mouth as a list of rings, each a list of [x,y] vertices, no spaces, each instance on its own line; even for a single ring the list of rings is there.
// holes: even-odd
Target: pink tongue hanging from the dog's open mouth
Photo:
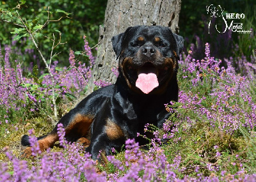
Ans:
[[[138,79],[136,80],[136,87],[141,89],[143,93],[148,94],[155,87],[159,86],[156,74],[154,73],[140,73]]]

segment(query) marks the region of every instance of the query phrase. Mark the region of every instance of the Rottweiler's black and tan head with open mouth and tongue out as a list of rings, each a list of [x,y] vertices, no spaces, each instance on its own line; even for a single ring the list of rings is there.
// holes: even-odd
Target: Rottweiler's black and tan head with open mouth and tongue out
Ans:
[[[137,93],[161,93],[177,73],[183,38],[168,27],[135,26],[113,36],[120,76]]]

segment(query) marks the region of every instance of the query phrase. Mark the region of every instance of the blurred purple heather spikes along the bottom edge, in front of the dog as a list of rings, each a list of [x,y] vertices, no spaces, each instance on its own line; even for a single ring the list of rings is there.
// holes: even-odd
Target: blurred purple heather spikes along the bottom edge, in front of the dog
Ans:
[[[33,131],[30,132],[30,142],[35,144]],[[47,150],[44,156],[40,156],[38,148],[33,146],[33,166],[28,162],[19,160],[12,152],[6,150],[6,155],[12,163],[12,171],[6,163],[0,163],[0,178],[5,181],[252,181],[254,175],[246,175],[244,171],[230,175],[221,172],[220,178],[215,174],[203,176],[196,169],[197,178],[184,176],[178,177],[178,172],[184,172],[180,168],[182,158],[175,155],[173,161],[168,161],[167,156],[158,144],[154,145],[147,155],[141,151],[134,139],[125,142],[124,160],[120,161],[115,156],[108,156],[108,163],[116,167],[115,172],[98,171],[97,163],[90,159],[90,155],[84,154],[83,148],[76,144],[68,144],[65,140],[63,126],[58,125],[61,152]],[[170,155],[170,154],[169,154]],[[104,164],[106,165],[106,163]],[[108,164],[109,165],[109,164]]]

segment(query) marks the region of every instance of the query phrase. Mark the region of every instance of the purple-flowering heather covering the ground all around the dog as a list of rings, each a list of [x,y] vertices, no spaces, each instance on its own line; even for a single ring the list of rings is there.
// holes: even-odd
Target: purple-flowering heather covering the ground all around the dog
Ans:
[[[97,162],[91,160],[90,154],[85,153],[82,146],[65,140],[65,131],[61,125],[58,125],[59,144],[47,151],[38,149],[34,132],[29,130],[35,128],[38,133],[49,128],[49,123],[44,123],[44,116],[47,114],[52,118],[52,98],[56,105],[60,105],[65,100],[76,101],[86,91],[95,57],[85,37],[84,52],[70,49],[70,66],[61,67],[60,60],[52,59],[47,72],[40,68],[40,64],[23,66],[19,56],[14,55],[17,53],[22,56],[22,51],[14,45],[1,45],[0,50],[0,139],[3,140],[1,147],[9,146],[0,151],[0,179],[256,180],[255,57],[220,60],[211,56],[208,43],[205,44],[205,56],[200,59],[195,59],[194,50],[188,55],[184,54],[179,62],[179,102],[166,103],[166,112],[170,112],[170,118],[166,119],[163,129],[145,126],[145,132],[154,134],[154,138],[148,139],[148,149],[142,149],[134,139],[128,139],[123,151],[116,153],[113,149],[113,155],[99,155],[101,162]],[[29,50],[26,54],[30,54]],[[86,58],[85,61],[81,61],[81,56]],[[115,68],[112,71],[118,75]],[[108,84],[111,83],[104,80],[95,82],[97,87]],[[31,113],[30,116],[28,113]],[[24,121],[26,125],[20,125]],[[20,143],[17,141],[26,131],[30,135],[33,158],[22,160],[17,158],[20,155],[20,148],[17,147]],[[144,133],[138,135],[145,137]],[[8,142],[9,139],[12,142]]]

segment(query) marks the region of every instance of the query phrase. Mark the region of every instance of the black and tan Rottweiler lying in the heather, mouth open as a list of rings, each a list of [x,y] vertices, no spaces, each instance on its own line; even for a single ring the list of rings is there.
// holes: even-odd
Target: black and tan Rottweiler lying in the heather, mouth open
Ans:
[[[168,27],[135,26],[114,36],[112,43],[119,58],[116,83],[94,91],[59,121],[68,141],[90,140],[86,151],[93,159],[97,159],[99,151],[109,155],[112,148],[120,149],[127,139],[136,138],[145,144],[137,132],[143,134],[147,123],[161,128],[168,118],[164,103],[178,100],[181,36]],[[57,140],[57,126],[38,137],[42,151]],[[22,137],[21,143],[29,146],[28,135]],[[29,151],[26,148],[24,155]]]

